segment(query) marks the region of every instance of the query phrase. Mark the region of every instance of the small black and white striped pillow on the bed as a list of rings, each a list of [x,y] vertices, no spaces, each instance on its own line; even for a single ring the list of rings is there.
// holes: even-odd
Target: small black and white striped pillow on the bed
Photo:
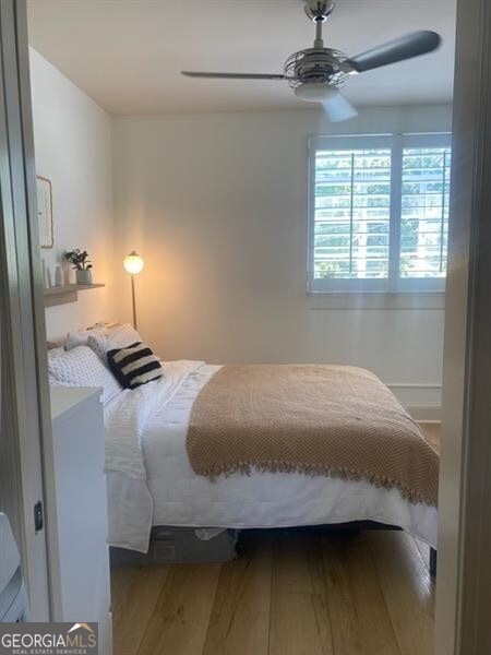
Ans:
[[[164,374],[164,369],[151,348],[140,342],[125,348],[109,350],[107,361],[124,389],[136,389]]]

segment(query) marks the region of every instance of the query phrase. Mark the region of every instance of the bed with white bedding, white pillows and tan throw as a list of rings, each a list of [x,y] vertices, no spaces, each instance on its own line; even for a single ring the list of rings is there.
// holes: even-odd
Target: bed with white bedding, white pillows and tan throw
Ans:
[[[156,526],[371,522],[436,547],[438,453],[373,373],[166,361],[130,390],[108,352],[133,342],[103,326],[48,353],[51,384],[103,388],[110,545],[145,553]]]

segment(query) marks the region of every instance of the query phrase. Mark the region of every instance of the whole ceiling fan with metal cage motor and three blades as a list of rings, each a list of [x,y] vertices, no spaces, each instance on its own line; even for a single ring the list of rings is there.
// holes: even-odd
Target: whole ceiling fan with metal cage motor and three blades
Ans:
[[[356,109],[339,93],[348,75],[363,73],[382,66],[404,61],[435,50],[440,35],[435,32],[412,32],[387,44],[346,57],[343,52],[326,48],[322,38],[325,21],[333,13],[334,0],[307,0],[306,13],[315,23],[313,48],[291,55],[285,62],[283,74],[264,73],[206,73],[182,71],[189,78],[215,80],[278,80],[288,82],[295,95],[302,100],[321,103],[333,122],[357,116]]]

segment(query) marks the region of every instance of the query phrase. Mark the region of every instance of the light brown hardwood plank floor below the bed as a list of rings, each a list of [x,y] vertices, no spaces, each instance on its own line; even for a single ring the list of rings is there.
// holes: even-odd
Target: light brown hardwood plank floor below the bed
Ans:
[[[427,430],[438,439],[438,428]],[[431,655],[429,548],[250,531],[224,564],[113,568],[115,655]]]

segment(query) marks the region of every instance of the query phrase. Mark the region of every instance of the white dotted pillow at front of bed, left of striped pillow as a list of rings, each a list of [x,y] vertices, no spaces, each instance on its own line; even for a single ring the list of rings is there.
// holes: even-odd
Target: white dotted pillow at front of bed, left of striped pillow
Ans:
[[[88,346],[49,350],[48,372],[49,383],[57,386],[101,386],[104,404],[122,390],[111,371]]]

